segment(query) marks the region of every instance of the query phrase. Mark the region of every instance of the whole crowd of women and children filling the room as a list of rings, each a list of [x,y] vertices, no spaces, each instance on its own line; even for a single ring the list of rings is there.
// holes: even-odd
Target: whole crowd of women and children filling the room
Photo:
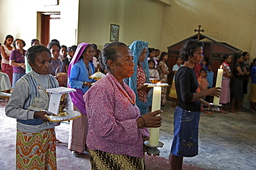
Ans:
[[[145,169],[147,148],[143,142],[149,140],[147,128],[159,127],[162,122],[162,117],[156,117],[162,111],[149,111],[152,88],[145,83],[151,79],[167,83],[168,75],[173,74],[170,93],[165,86],[161,94],[162,107],[167,95],[176,107],[171,169],[181,169],[183,157],[198,154],[200,113],[212,113],[207,108],[212,107],[213,96],[220,97],[221,113],[243,111],[251,77],[249,111],[256,113],[256,59],[249,66],[247,52],[223,55],[222,86],[216,88],[212,64],[203,57],[203,42],[198,40],[184,44],[174,66],[168,64],[168,53],[149,48],[145,41],[134,41],[129,46],[121,42],[105,44],[102,52],[96,44],[67,48],[57,39],[51,40],[47,48],[38,39],[31,41],[28,50],[24,46],[24,40],[14,40],[12,35],[6,36],[1,46],[1,72],[8,75],[13,88],[6,115],[17,119],[17,169],[57,169],[57,124],[44,116],[49,115],[45,111],[50,97],[46,88],[75,88],[70,93],[73,110],[82,117],[70,121],[68,149],[76,157],[88,151],[92,169]],[[231,70],[232,57],[235,61]],[[107,75],[92,79],[97,70]]]

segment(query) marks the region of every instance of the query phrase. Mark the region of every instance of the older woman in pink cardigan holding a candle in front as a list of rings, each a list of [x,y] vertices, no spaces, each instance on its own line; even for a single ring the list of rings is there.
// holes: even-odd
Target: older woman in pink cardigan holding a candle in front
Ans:
[[[140,117],[134,91],[123,82],[134,73],[132,57],[123,43],[104,47],[100,64],[109,73],[84,95],[91,169],[144,169],[144,127],[161,126],[162,118],[155,115],[162,111]]]

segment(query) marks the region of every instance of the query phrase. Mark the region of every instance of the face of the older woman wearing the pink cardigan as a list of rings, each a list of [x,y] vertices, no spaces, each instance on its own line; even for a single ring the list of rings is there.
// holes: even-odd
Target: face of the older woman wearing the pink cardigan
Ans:
[[[131,77],[134,73],[134,62],[131,55],[131,50],[128,47],[120,47],[119,55],[115,62],[113,62],[113,76],[120,79]]]

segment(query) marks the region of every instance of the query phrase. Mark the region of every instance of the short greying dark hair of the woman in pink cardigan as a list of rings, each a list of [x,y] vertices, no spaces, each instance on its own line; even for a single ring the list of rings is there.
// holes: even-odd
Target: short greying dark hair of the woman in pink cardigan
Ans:
[[[107,64],[107,61],[109,59],[116,61],[118,57],[120,57],[120,53],[118,53],[118,50],[120,47],[125,46],[128,48],[128,46],[122,42],[113,42],[111,44],[107,44],[104,46],[102,53],[100,53],[99,61],[100,66],[102,70],[108,70],[111,71],[109,68],[109,65]]]

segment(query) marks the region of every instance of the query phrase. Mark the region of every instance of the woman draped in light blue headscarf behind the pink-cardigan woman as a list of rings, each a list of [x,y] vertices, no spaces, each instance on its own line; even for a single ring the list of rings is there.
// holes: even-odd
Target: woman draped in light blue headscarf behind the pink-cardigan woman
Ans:
[[[148,43],[145,41],[134,41],[129,48],[134,56],[134,74],[125,79],[125,82],[136,94],[136,104],[140,108],[140,114],[148,113],[152,105],[152,93],[145,83],[149,83],[149,66],[147,63]]]

